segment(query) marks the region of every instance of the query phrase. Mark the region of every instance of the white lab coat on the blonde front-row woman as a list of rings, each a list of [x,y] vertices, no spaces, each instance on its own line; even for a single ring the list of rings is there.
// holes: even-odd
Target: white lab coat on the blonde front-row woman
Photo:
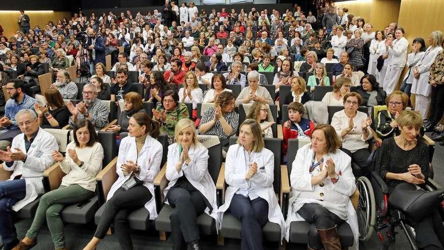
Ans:
[[[209,208],[205,208],[204,212],[215,220],[216,230],[218,230],[220,221],[217,216],[216,185],[214,185],[214,181],[208,172],[208,149],[198,142],[196,145],[192,145],[190,149],[188,149],[188,155],[191,159],[190,164],[187,166],[184,162],[182,170],[177,172],[176,164],[179,162],[180,158],[179,144],[173,143],[168,146],[166,177],[170,182],[168,183],[167,188],[163,190],[163,195],[166,197],[170,188],[172,188],[177,180],[185,174],[191,185],[193,185],[193,187],[195,187],[207,199],[209,204],[211,204],[211,207],[213,208],[211,214]],[[165,201],[165,203],[169,204],[168,201]]]

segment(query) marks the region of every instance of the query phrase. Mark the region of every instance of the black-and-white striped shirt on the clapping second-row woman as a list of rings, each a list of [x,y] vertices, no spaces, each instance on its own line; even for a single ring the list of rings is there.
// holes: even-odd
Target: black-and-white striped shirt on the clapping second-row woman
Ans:
[[[207,122],[210,122],[212,119],[214,119],[214,112],[215,112],[214,107],[208,108],[205,111],[205,113],[203,114],[200,124],[205,124]],[[222,127],[222,124],[220,124],[219,120],[217,120],[217,122],[214,124],[214,126],[210,130],[206,131],[205,133],[201,133],[201,134],[217,135],[217,136],[223,137],[225,139],[228,139],[230,136],[235,135],[236,132],[238,131],[238,127],[239,127],[239,114],[233,111],[230,113],[226,113],[224,115],[224,118],[227,121],[227,123],[230,124],[230,126],[232,128],[230,135],[225,134],[224,128]]]

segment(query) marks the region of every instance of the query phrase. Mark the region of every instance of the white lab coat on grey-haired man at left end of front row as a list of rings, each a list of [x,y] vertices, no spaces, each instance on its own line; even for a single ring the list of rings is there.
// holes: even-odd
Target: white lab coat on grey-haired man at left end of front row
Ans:
[[[25,197],[12,207],[12,210],[16,212],[33,202],[39,194],[44,193],[43,172],[54,163],[51,156],[52,152],[59,151],[59,144],[57,144],[55,137],[42,128],[38,128],[37,135],[28,152],[26,152],[24,136],[21,133],[14,137],[11,151],[16,152],[15,148],[20,148],[28,156],[26,162],[14,161],[11,167],[8,167],[6,163],[3,164],[5,170],[14,171],[9,180],[14,180],[16,176],[22,175],[22,179],[25,179],[26,182]]]

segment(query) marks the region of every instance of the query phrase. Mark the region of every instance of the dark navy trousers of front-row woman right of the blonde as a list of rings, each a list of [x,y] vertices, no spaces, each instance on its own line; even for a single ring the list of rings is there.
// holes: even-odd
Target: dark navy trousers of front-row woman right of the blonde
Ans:
[[[261,250],[262,227],[268,221],[268,203],[265,199],[250,198],[235,194],[230,204],[230,212],[242,222],[241,248],[242,250]]]

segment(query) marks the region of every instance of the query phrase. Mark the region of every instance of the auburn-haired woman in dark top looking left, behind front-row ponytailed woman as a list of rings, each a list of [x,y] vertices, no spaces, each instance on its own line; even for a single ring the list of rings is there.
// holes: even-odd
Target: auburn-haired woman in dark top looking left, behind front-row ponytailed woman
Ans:
[[[130,117],[138,112],[146,113],[142,97],[136,92],[127,93],[124,99],[124,110],[119,114],[117,125],[110,126],[106,131],[128,132]]]

